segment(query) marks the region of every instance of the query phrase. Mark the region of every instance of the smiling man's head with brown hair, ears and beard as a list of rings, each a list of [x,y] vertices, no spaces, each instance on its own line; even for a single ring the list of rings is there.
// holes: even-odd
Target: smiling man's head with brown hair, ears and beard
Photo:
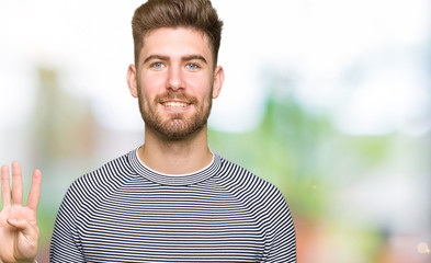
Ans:
[[[146,137],[179,140],[206,132],[224,81],[216,66],[222,24],[209,0],[148,0],[136,10],[127,83]]]

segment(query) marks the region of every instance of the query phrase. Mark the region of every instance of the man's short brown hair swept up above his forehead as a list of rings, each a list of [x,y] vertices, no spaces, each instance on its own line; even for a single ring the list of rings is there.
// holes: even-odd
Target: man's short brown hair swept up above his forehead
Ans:
[[[216,66],[223,21],[218,19],[217,11],[209,0],[148,0],[136,9],[132,19],[136,66],[147,33],[161,27],[179,26],[191,27],[206,34]]]

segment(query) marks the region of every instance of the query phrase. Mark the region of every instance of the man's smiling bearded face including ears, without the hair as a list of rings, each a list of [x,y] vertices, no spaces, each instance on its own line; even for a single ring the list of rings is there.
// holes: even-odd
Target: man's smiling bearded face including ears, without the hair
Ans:
[[[127,79],[147,129],[182,139],[205,127],[224,79],[213,61],[200,31],[167,27],[145,36],[139,65],[129,67]]]

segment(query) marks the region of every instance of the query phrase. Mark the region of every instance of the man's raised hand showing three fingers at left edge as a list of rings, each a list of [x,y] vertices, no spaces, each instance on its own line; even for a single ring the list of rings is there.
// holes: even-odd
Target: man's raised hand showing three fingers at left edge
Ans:
[[[26,206],[23,206],[21,167],[12,163],[12,192],[9,167],[1,168],[0,262],[34,262],[39,230],[36,222],[42,173],[35,170]]]

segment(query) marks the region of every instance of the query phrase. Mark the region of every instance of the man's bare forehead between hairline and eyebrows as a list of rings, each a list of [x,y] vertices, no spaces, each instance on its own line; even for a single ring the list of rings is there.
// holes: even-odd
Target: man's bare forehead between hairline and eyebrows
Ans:
[[[206,34],[188,27],[162,27],[148,32],[144,36],[140,57],[145,59],[155,54],[168,57],[201,55],[208,62],[213,61]]]

